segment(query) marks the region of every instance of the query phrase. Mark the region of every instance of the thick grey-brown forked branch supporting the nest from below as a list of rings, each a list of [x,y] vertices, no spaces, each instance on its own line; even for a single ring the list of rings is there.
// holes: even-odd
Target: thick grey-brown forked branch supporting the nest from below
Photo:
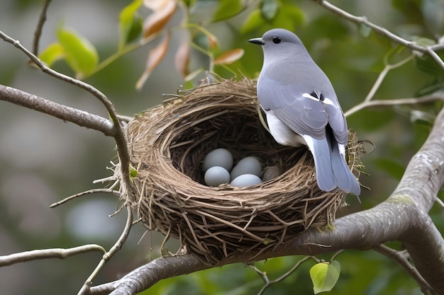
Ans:
[[[267,250],[262,260],[286,255],[317,255],[341,249],[369,250],[388,241],[402,241],[418,272],[438,294],[444,294],[444,240],[428,216],[444,182],[444,109],[428,139],[411,159],[392,195],[372,209],[337,219],[334,230],[309,229],[294,239]],[[213,267],[250,262],[248,254],[227,258]],[[162,257],[125,277],[91,288],[91,294],[136,294],[161,279],[205,270],[194,255]]]

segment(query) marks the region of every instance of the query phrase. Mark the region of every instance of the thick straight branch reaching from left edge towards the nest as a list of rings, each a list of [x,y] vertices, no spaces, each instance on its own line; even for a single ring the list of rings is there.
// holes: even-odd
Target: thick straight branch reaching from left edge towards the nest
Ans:
[[[45,114],[52,115],[64,121],[73,122],[79,126],[100,131],[110,137],[113,137],[115,133],[113,124],[104,117],[90,114],[84,110],[70,108],[66,105],[60,105],[59,103],[40,98],[16,88],[0,85],[0,100],[37,110],[38,112],[44,112]]]

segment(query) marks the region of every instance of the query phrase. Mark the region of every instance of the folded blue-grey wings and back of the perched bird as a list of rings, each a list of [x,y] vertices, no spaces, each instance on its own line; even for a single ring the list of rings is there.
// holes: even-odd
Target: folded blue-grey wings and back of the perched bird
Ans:
[[[316,139],[326,136],[347,144],[347,122],[327,76],[313,62],[280,61],[262,69],[257,96],[265,110],[273,110],[294,132]]]

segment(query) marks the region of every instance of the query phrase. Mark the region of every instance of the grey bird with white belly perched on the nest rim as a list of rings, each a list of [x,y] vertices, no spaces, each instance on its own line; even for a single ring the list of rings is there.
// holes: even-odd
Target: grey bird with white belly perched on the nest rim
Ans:
[[[268,30],[249,42],[261,45],[264,53],[257,100],[274,140],[308,146],[324,192],[338,187],[359,196],[360,184],[345,161],[347,121],[331,81],[289,30]]]

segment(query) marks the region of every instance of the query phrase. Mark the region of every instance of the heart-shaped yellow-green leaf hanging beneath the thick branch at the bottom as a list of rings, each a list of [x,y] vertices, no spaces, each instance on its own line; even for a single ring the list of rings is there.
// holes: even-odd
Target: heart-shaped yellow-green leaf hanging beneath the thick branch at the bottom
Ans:
[[[311,282],[313,282],[313,292],[318,294],[324,291],[331,291],[338,282],[340,274],[340,263],[336,260],[332,262],[320,262],[310,269]]]

